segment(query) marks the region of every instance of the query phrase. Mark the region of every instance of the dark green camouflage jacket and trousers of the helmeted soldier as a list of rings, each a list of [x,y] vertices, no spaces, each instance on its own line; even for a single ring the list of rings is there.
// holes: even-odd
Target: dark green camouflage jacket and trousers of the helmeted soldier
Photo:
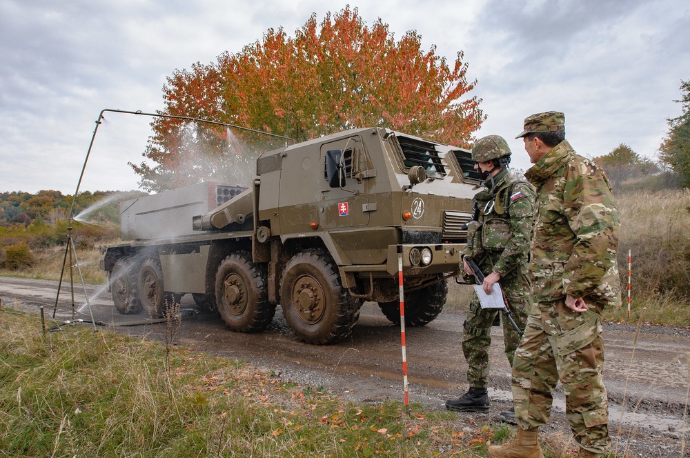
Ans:
[[[469,225],[468,243],[462,256],[473,259],[484,275],[496,272],[501,276],[501,288],[511,315],[517,326],[524,329],[531,306],[527,253],[535,208],[534,188],[511,177],[505,169],[495,175],[493,188],[491,180],[484,181],[484,185],[489,190],[475,195],[480,213],[477,221]],[[491,211],[484,213],[485,208]],[[471,387],[487,388],[491,325],[499,312],[482,309],[476,293],[473,295],[462,336],[462,352],[469,366],[467,381]],[[520,335],[507,321],[503,323],[503,339],[506,357],[512,365]]]

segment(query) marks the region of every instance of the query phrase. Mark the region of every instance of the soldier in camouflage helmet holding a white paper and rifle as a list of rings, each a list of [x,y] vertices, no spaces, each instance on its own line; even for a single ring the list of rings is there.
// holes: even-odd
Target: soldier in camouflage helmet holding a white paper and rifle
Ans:
[[[517,326],[524,330],[531,307],[527,279],[527,254],[530,248],[532,217],[535,212],[535,190],[524,180],[513,177],[508,164],[511,149],[498,135],[482,137],[472,147],[472,160],[486,189],[473,199],[475,218],[468,223],[467,245],[462,251],[465,281],[474,281],[467,261],[475,261],[486,276],[482,283],[490,293],[493,283],[500,283]],[[489,346],[491,326],[499,309],[482,309],[479,297],[473,295],[463,325],[462,352],[469,366],[469,390],[459,399],[446,401],[446,409],[456,412],[489,412]],[[520,334],[504,322],[503,339],[511,366]],[[501,412],[508,421],[513,410]]]

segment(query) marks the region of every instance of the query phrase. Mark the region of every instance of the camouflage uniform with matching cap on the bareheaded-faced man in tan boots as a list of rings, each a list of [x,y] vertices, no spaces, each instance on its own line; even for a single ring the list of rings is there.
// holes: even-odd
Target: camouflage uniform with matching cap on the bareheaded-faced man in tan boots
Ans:
[[[564,123],[560,112],[540,115],[551,126]],[[520,137],[547,130],[528,130],[533,117]],[[601,319],[604,306],[620,305],[618,210],[604,172],[576,155],[568,141],[525,176],[538,192],[530,263],[534,303],[513,362],[515,419],[522,430],[546,424],[560,380],[575,440],[589,452],[604,453],[611,441]],[[573,312],[566,295],[584,299],[589,310]],[[493,447],[489,452],[502,456]]]

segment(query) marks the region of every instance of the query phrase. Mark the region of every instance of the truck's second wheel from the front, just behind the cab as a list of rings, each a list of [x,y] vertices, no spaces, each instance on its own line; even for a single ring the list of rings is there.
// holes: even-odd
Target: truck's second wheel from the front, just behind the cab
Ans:
[[[215,301],[228,328],[238,332],[261,332],[275,315],[268,302],[264,270],[246,251],[229,255],[216,272]]]

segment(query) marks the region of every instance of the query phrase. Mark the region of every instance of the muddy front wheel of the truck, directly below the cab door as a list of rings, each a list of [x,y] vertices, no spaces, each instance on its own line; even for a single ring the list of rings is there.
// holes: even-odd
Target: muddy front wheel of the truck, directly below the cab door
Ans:
[[[280,282],[283,315],[295,335],[325,345],[352,332],[357,311],[342,287],[333,259],[322,250],[305,250],[288,261]]]

